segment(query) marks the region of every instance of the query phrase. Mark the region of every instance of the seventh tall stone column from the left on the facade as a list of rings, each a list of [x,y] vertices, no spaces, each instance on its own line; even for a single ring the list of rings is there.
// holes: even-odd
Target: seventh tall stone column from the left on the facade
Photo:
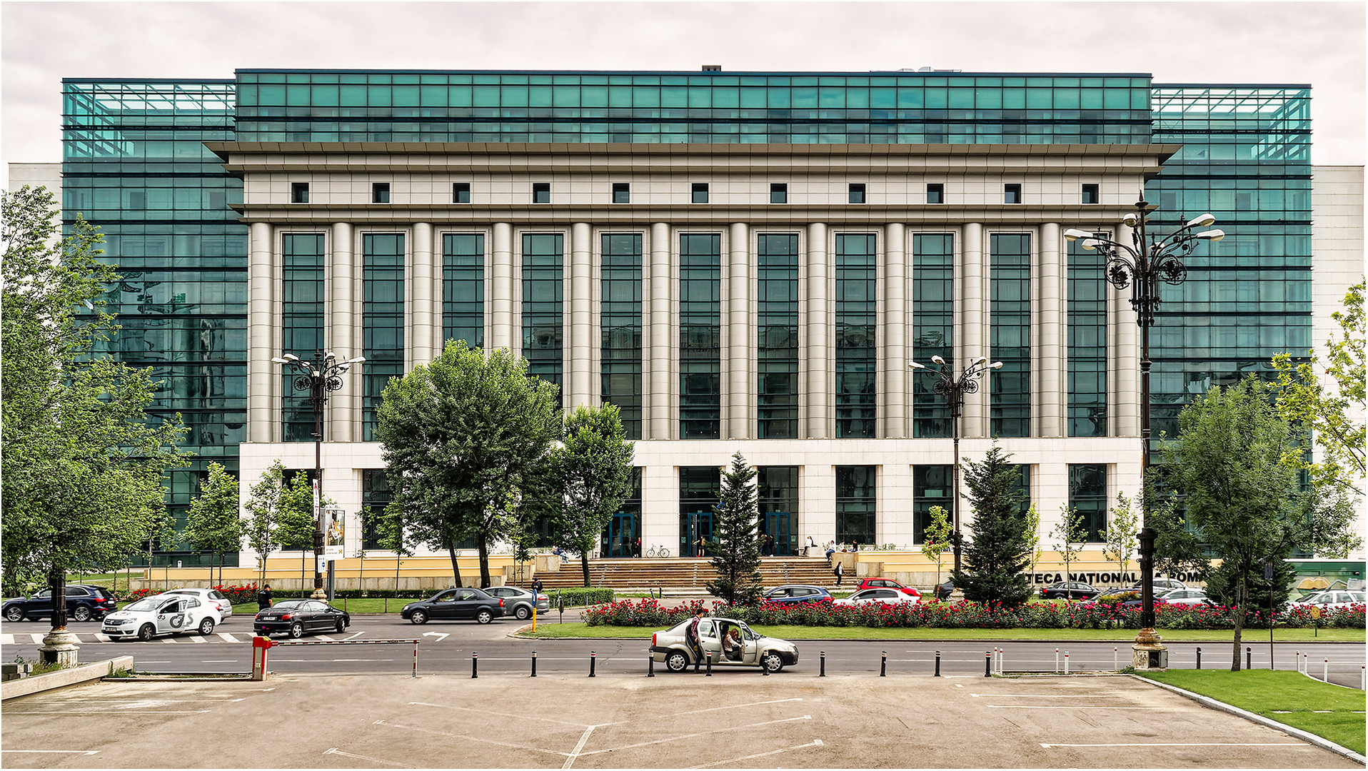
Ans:
[[[751,376],[751,253],[746,223],[732,223],[726,264],[726,436],[748,439],[755,379]]]

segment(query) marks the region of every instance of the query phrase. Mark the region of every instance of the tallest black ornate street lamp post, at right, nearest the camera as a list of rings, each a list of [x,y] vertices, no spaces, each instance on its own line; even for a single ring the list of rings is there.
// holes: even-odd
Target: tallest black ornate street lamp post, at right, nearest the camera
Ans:
[[[1208,227],[1216,221],[1211,213],[1187,220],[1186,224],[1168,235],[1152,239],[1145,232],[1145,216],[1149,204],[1141,197],[1135,211],[1120,219],[1131,228],[1131,243],[1127,246],[1111,236],[1105,230],[1088,232],[1070,228],[1064,231],[1067,241],[1083,239],[1083,249],[1096,249],[1107,258],[1107,280],[1116,288],[1130,288],[1130,306],[1135,310],[1140,324],[1140,478],[1141,478],[1141,529],[1140,529],[1140,633],[1131,647],[1135,668],[1161,668],[1167,666],[1167,651],[1155,633],[1155,530],[1149,526],[1149,500],[1144,495],[1145,477],[1149,472],[1149,328],[1155,325],[1159,310],[1160,283],[1181,284],[1187,278],[1183,258],[1197,249],[1198,241],[1220,241],[1226,234]]]

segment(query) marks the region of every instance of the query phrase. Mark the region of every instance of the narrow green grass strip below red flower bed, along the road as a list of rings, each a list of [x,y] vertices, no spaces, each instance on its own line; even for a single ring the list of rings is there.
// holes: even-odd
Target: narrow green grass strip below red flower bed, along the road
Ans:
[[[1134,629],[871,629],[867,626],[757,626],[757,632],[784,640],[1081,640],[1116,641],[1135,640]],[[555,623],[538,627],[536,637],[650,637],[658,629],[644,626],[588,626],[586,623]],[[1311,629],[1279,629],[1275,641],[1302,642],[1312,640]],[[529,633],[524,633],[529,636]],[[1234,633],[1186,629],[1160,629],[1159,636],[1174,642],[1231,642]],[[1245,641],[1259,637],[1245,634]],[[1267,637],[1264,637],[1267,640]],[[1321,629],[1315,640],[1364,641],[1363,629]]]

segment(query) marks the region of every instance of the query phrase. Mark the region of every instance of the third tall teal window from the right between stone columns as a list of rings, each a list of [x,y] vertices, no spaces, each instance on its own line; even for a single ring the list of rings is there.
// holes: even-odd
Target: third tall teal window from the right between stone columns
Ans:
[[[955,373],[955,236],[948,232],[912,235],[912,361],[934,366],[933,355]],[[918,439],[945,437],[953,429],[936,383],[929,375],[912,376],[912,436]]]

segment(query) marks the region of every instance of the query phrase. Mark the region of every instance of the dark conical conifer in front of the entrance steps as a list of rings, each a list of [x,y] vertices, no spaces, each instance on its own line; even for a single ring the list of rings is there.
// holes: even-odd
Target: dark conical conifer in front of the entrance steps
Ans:
[[[721,499],[713,514],[713,569],[709,593],[728,604],[752,604],[761,597],[761,544],[755,537],[755,469],[737,452],[722,474]]]

